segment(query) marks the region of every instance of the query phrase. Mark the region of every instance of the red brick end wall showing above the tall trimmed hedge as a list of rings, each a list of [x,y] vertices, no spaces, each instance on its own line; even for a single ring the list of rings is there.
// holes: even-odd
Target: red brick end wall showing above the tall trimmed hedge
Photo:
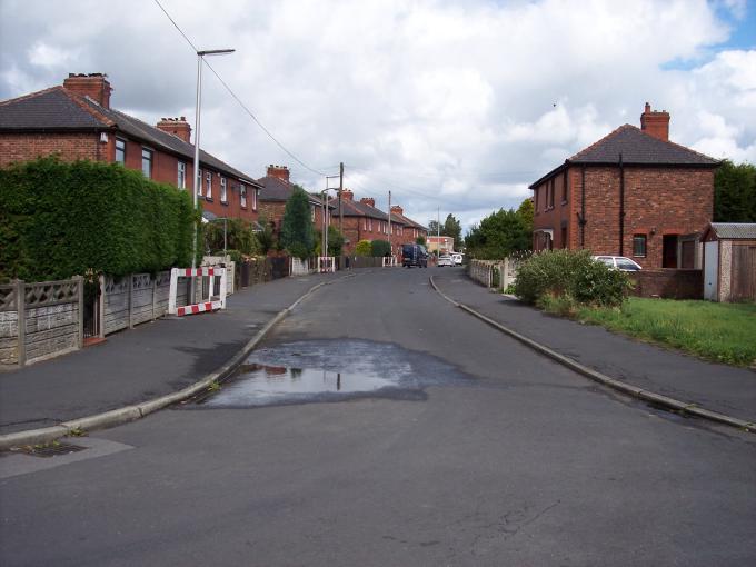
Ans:
[[[89,133],[0,133],[0,167],[59,152],[63,161],[107,159],[108,147]]]

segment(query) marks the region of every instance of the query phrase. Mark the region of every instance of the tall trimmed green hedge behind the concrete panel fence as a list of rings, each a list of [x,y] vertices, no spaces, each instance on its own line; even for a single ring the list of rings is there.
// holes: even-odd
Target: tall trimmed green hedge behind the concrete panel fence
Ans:
[[[189,266],[197,219],[188,191],[120,165],[18,163],[0,169],[0,280]]]

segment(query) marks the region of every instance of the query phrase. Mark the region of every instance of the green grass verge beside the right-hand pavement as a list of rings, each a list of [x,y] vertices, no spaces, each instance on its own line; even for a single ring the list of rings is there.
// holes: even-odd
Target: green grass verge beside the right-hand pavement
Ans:
[[[576,319],[732,366],[756,368],[756,304],[645,299],[577,308]]]

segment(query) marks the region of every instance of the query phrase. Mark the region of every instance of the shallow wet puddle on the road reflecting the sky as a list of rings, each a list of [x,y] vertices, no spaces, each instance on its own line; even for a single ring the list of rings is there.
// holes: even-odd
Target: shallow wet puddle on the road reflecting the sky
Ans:
[[[252,352],[219,389],[196,399],[195,407],[249,408],[366,397],[425,400],[427,386],[470,380],[432,356],[396,345],[288,342]]]

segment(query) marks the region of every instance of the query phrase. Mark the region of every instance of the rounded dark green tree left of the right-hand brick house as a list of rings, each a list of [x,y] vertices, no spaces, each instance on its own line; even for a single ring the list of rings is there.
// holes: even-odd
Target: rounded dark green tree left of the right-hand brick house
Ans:
[[[465,237],[470,258],[500,260],[514,252],[528,250],[533,242],[533,225],[513,210],[499,209],[474,226]]]

